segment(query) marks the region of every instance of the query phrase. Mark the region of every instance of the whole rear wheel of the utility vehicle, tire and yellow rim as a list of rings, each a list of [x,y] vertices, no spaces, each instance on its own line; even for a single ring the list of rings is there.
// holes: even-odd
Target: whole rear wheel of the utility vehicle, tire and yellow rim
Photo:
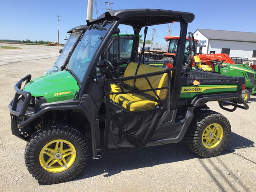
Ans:
[[[203,110],[195,114],[184,136],[187,146],[202,157],[218,156],[231,136],[231,126],[218,112]]]

